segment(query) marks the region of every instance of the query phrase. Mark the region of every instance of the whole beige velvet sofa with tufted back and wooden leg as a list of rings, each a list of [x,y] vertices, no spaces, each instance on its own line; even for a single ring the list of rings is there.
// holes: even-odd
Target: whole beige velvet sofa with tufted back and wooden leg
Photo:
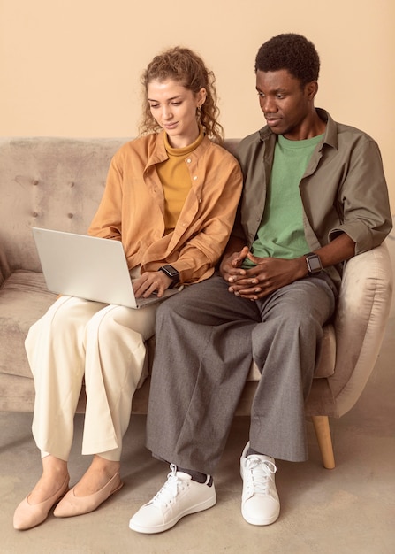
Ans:
[[[32,411],[34,381],[27,365],[27,329],[55,296],[46,289],[31,227],[87,233],[103,194],[112,154],[127,139],[0,139],[0,410]],[[234,150],[237,140],[225,147]],[[391,263],[385,245],[353,258],[333,324],[325,327],[323,358],[306,405],[314,416],[325,466],[333,466],[326,416],[340,417],[368,381],[391,304]],[[152,341],[148,350],[152,359]],[[256,368],[238,414],[248,414]],[[149,380],[133,398],[147,410]],[[80,410],[84,398],[81,395]],[[326,450],[326,453],[325,453]],[[325,459],[326,458],[326,459]]]

